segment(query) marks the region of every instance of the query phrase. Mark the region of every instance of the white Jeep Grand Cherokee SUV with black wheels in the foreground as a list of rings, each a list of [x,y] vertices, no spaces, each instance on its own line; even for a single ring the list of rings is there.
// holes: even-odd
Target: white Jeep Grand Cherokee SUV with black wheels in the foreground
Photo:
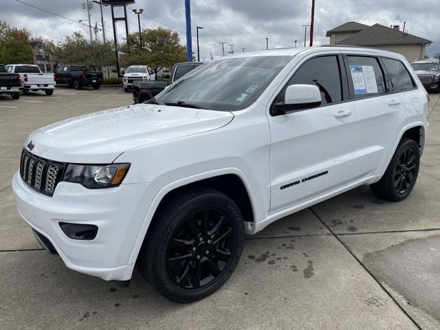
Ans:
[[[137,263],[161,294],[188,303],[228,280],[245,233],[362,184],[405,199],[427,106],[398,54],[245,53],[202,65],[149,104],[34,131],[12,188],[67,267],[128,282]]]

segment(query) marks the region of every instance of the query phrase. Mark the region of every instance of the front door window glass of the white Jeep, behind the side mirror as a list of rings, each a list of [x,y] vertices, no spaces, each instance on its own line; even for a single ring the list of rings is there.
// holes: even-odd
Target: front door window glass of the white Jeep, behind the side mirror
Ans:
[[[315,85],[321,92],[322,104],[342,100],[340,65],[337,56],[322,56],[311,58],[294,73],[276,103],[285,101],[287,86],[295,84]]]

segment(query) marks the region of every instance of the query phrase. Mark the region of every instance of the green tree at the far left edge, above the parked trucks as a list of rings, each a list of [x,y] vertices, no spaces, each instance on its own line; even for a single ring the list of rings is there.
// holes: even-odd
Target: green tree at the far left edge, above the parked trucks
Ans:
[[[29,40],[28,30],[10,28],[7,23],[0,21],[0,63],[32,64],[34,53]]]

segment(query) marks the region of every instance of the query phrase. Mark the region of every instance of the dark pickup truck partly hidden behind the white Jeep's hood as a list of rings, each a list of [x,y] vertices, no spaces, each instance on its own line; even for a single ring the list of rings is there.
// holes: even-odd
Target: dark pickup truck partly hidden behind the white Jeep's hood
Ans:
[[[168,78],[168,81],[135,81],[132,89],[133,101],[136,104],[154,98],[157,94],[163,91],[166,86],[171,85],[176,80],[179,80],[181,77],[188,74],[188,72],[202,64],[203,63],[201,62],[177,63],[173,65],[173,69],[171,69],[170,78]]]

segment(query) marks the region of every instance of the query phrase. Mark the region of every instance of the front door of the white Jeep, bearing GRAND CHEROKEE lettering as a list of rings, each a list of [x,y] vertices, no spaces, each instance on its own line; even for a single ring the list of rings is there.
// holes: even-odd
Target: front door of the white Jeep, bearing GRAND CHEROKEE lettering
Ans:
[[[271,212],[346,184],[351,179],[353,103],[348,99],[342,56],[309,56],[278,94],[284,102],[289,85],[315,85],[322,105],[268,115],[270,124]],[[272,104],[273,104],[272,103]]]

